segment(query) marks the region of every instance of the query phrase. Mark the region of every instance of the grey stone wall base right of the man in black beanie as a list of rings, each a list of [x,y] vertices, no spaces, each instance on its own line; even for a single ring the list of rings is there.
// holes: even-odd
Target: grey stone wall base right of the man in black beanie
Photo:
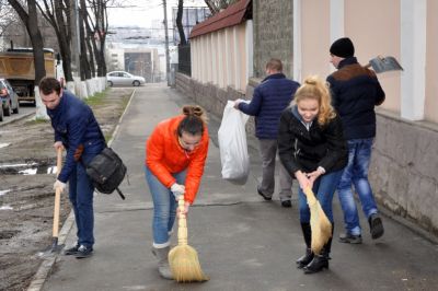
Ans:
[[[369,171],[376,199],[438,235],[438,127],[379,110]]]

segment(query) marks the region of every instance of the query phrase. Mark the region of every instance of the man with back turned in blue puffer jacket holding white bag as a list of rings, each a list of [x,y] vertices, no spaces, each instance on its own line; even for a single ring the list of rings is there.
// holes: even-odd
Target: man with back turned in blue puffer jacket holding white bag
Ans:
[[[280,115],[292,101],[300,84],[286,79],[279,59],[273,58],[266,63],[266,74],[267,77],[255,88],[251,103],[237,101],[234,107],[244,114],[255,116],[255,136],[260,141],[263,167],[262,183],[257,186],[257,193],[265,200],[272,200],[275,189],[274,174]],[[291,207],[292,178],[281,163],[279,166],[281,206]]]

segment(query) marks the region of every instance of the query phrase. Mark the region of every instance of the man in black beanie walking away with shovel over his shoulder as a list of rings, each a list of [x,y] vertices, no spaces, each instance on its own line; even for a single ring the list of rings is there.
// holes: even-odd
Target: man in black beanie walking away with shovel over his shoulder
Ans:
[[[331,85],[333,106],[343,121],[349,151],[348,164],[337,187],[346,228],[339,241],[360,244],[361,229],[351,185],[355,186],[368,219],[371,237],[374,240],[383,235],[382,220],[368,181],[368,167],[376,137],[374,106],[382,104],[385,96],[376,73],[364,68],[354,57],[355,47],[348,37],[334,42],[330,54],[331,62],[337,71],[327,77],[327,82]]]

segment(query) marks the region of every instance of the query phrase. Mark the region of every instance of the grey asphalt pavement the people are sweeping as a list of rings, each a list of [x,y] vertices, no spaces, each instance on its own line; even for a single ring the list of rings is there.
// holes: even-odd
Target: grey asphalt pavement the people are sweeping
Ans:
[[[113,89],[116,90],[116,89]],[[243,186],[222,181],[217,147],[219,120],[210,118],[211,143],[198,197],[188,217],[188,244],[198,251],[208,282],[163,280],[150,253],[152,203],[143,178],[145,141],[160,120],[192,103],[164,84],[140,88],[124,115],[112,147],[128,166],[123,201],[116,194],[95,197],[95,252],[78,260],[59,256],[44,290],[437,290],[438,246],[383,217],[385,234],[372,241],[361,218],[364,244],[345,245],[342,211],[334,199],[335,240],[330,269],[304,275],[295,260],[304,252],[293,207],[256,194],[260,158],[250,148],[251,177]],[[250,144],[252,144],[250,142]],[[71,223],[67,222],[67,223]],[[72,244],[74,226],[68,232]],[[173,244],[175,244],[173,237]]]

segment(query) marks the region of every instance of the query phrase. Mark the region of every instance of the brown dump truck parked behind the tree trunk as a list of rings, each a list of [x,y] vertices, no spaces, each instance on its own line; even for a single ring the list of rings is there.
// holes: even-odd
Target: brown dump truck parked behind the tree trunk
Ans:
[[[56,78],[57,58],[51,48],[44,48],[46,77]],[[19,101],[35,104],[35,66],[32,48],[10,48],[0,53],[0,78],[8,79]]]

